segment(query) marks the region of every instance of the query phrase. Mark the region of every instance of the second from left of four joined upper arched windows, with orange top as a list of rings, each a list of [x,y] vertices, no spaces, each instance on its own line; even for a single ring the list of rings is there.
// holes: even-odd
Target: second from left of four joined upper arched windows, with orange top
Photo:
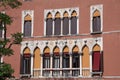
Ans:
[[[57,12],[55,15],[55,24],[54,24],[54,35],[60,35],[61,34],[61,18],[60,13]]]

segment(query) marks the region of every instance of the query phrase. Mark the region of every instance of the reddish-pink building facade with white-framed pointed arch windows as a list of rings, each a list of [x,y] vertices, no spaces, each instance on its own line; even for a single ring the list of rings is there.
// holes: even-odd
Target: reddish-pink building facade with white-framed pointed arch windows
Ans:
[[[120,79],[119,0],[22,3],[5,10],[14,20],[7,36],[22,32],[24,39],[13,46],[13,56],[2,57],[16,78]]]

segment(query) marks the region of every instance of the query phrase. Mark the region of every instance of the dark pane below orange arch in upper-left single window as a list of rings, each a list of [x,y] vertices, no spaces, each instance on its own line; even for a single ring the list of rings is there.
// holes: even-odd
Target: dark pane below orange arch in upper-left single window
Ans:
[[[24,36],[25,37],[31,36],[31,21],[24,22]]]

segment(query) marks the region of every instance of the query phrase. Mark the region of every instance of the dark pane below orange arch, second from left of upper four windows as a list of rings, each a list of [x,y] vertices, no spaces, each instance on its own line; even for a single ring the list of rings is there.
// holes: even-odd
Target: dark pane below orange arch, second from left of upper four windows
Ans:
[[[55,28],[54,28],[54,35],[60,35],[61,33],[61,19],[56,18],[55,19]]]

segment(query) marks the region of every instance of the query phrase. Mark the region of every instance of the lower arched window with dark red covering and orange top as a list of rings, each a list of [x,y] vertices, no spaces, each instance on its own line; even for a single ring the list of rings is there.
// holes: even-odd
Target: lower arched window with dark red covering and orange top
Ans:
[[[103,73],[103,52],[101,47],[96,44],[92,50],[92,75],[102,76]]]

